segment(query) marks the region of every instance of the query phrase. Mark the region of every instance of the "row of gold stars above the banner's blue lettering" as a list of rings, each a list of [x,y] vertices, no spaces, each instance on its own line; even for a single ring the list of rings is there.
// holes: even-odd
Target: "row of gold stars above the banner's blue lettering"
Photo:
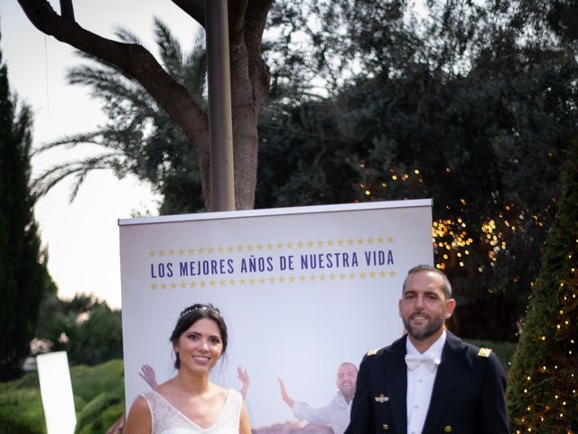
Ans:
[[[257,244],[239,244],[237,246],[218,246],[218,247],[198,247],[198,248],[179,248],[179,249],[168,249],[168,250],[154,250],[148,251],[149,258],[154,257],[165,257],[165,256],[184,256],[184,255],[194,255],[194,254],[214,254],[214,253],[241,253],[241,252],[258,252],[258,251],[275,251],[275,250],[294,250],[294,249],[312,249],[312,248],[328,248],[328,247],[359,247],[359,246],[373,246],[379,244],[391,244],[394,242],[394,237],[391,235],[384,238],[382,236],[369,237],[369,238],[349,238],[347,240],[317,240],[317,241],[277,241],[267,242],[267,243],[257,243]]]

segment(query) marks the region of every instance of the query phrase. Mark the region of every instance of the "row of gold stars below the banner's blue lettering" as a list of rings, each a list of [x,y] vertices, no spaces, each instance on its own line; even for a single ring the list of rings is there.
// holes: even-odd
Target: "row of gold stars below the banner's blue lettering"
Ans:
[[[340,274],[319,274],[319,275],[300,275],[300,276],[280,276],[280,277],[270,277],[270,278],[211,278],[206,280],[201,278],[197,280],[181,281],[181,282],[171,282],[171,283],[152,283],[150,288],[152,290],[164,290],[164,289],[187,289],[187,288],[222,288],[222,287],[245,287],[256,285],[275,285],[283,283],[312,283],[312,282],[325,282],[325,281],[344,281],[344,280],[363,280],[363,279],[373,279],[373,278],[395,278],[396,271],[369,271],[360,273],[340,273]]]

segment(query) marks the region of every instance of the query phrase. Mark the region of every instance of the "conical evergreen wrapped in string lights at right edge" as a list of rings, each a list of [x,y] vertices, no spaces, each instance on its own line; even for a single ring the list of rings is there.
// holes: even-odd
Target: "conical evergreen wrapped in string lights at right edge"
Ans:
[[[510,369],[513,433],[578,431],[578,142]]]

